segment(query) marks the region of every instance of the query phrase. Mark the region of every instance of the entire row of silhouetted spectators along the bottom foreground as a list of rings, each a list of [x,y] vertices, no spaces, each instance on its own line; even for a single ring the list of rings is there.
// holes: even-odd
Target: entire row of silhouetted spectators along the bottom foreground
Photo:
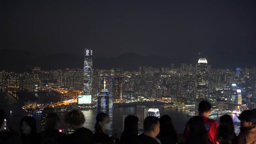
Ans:
[[[211,104],[201,101],[198,116],[191,117],[179,137],[172,119],[168,115],[148,116],[144,120],[143,133],[138,132],[138,117],[129,115],[124,120],[121,136],[108,134],[110,118],[106,113],[96,117],[95,131],[84,128],[85,116],[80,110],[65,114],[65,123],[74,129],[73,134],[59,131],[60,118],[56,113],[48,114],[45,130],[37,132],[33,116],[25,116],[20,121],[19,135],[14,135],[6,126],[4,111],[0,110],[0,144],[256,144],[256,110],[243,111],[240,134],[234,131],[231,116],[223,115],[219,123],[209,119]]]

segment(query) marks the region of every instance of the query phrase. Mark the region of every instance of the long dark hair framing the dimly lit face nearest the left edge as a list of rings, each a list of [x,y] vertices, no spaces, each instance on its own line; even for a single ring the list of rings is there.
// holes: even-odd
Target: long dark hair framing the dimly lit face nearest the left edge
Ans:
[[[36,120],[33,116],[25,116],[21,119],[21,122],[19,124],[19,129],[21,132],[21,125],[22,122],[26,122],[28,126],[30,126],[31,128],[31,132],[30,135],[36,135],[37,131],[36,131]],[[21,132],[21,138],[25,137],[25,135]]]

